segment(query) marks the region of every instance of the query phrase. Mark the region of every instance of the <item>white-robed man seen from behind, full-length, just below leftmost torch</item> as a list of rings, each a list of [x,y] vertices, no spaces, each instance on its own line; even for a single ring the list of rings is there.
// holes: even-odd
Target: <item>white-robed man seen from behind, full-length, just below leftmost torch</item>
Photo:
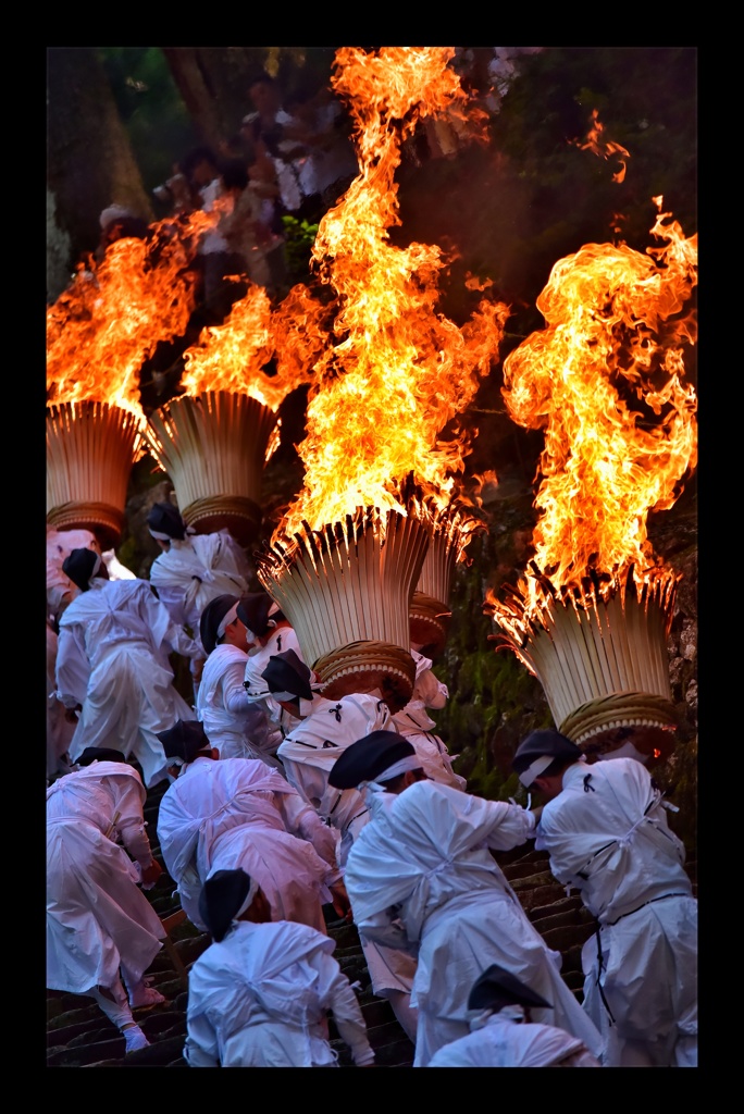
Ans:
[[[70,720],[69,754],[112,746],[143,770],[147,789],[167,778],[157,735],[194,712],[174,685],[168,654],[198,648],[174,625],[147,580],[109,580],[101,558],[75,549],[63,570],[81,589],[59,624],[57,696]]]

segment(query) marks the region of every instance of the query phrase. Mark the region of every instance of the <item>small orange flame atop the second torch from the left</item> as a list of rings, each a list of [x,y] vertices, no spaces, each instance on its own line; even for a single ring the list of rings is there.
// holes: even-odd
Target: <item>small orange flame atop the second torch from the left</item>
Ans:
[[[306,287],[294,286],[273,310],[262,286],[249,284],[221,325],[202,330],[184,353],[180,387],[186,394],[227,391],[247,394],[278,410],[286,395],[312,373],[326,342],[326,309]],[[275,370],[266,368],[274,358]]]

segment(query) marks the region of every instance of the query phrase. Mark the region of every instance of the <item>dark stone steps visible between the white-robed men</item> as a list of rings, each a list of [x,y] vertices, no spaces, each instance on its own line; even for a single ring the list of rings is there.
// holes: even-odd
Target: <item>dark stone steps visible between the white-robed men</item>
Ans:
[[[157,812],[167,783],[155,786],[147,797],[145,819],[154,853],[159,858]],[[527,844],[532,848],[532,844]],[[581,999],[581,947],[594,931],[594,921],[577,895],[567,896],[552,878],[545,852],[516,848],[500,853],[497,860],[515,889],[530,921],[546,944],[562,956],[562,975],[567,985]],[[688,863],[695,883],[695,863]],[[175,885],[164,872],[149,891],[155,911],[166,920],[179,910]],[[370,990],[370,977],[359,935],[353,925],[335,919],[332,906],[326,906],[329,935],[336,941],[334,956],[351,983],[359,981],[358,991],[368,1026],[370,1044],[379,1067],[411,1067],[413,1045],[398,1024],[392,1008]],[[177,917],[174,919],[178,919]],[[185,971],[209,945],[187,919],[169,932],[172,947],[155,957],[148,974],[153,986],[167,999],[149,1010],[135,1010],[134,1016],[145,1032],[149,1047],[125,1055],[124,1037],[105,1017],[92,999],[57,990],[47,991],[47,1067],[187,1067],[182,1052],[186,1038],[188,991]],[[174,960],[173,951],[177,959]],[[331,1022],[332,1044],[342,1067],[353,1066],[351,1053],[337,1036]]]

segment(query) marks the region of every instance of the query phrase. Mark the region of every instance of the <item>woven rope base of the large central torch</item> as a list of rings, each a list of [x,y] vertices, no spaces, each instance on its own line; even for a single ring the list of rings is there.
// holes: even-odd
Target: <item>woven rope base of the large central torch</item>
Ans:
[[[341,700],[378,688],[394,715],[413,693],[415,663],[408,651],[388,642],[352,642],[320,657],[313,668],[324,683],[323,695]]]

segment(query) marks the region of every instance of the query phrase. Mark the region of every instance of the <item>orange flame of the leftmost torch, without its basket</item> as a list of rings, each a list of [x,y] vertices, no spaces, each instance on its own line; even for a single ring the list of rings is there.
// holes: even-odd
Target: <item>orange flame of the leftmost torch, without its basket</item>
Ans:
[[[150,226],[148,241],[115,241],[96,266],[81,264],[47,311],[47,401],[104,402],[145,424],[139,369],[161,340],[183,335],[195,304],[188,268],[215,221],[197,211]]]

